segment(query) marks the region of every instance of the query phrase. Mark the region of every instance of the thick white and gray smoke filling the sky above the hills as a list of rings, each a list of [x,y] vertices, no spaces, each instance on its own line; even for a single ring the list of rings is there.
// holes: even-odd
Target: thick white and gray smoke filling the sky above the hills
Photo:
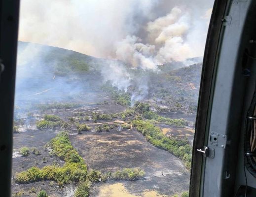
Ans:
[[[158,65],[203,56],[213,1],[21,0],[19,40],[159,71]],[[123,90],[133,79],[112,62],[102,74]],[[140,89],[144,94],[147,86]]]

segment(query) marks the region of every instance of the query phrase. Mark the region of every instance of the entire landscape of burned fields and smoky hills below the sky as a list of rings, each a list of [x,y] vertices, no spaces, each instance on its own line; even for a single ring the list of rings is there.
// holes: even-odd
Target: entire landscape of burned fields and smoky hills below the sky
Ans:
[[[201,64],[129,69],[19,44],[40,55],[18,65],[13,197],[187,195]]]

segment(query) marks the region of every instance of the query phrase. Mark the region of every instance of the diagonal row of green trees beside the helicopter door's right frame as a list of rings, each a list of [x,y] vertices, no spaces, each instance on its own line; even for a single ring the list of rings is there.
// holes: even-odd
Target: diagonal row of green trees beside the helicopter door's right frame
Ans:
[[[161,132],[159,127],[154,126],[149,121],[134,120],[132,125],[145,135],[146,140],[152,145],[179,157],[187,168],[190,167],[192,147],[186,139],[167,137]]]

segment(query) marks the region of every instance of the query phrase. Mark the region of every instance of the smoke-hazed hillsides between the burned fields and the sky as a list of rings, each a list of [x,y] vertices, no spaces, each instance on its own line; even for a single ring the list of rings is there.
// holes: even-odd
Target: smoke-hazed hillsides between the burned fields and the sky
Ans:
[[[164,111],[195,112],[201,64],[200,58],[173,62],[148,70],[133,68],[118,60],[99,59],[71,50],[19,42],[16,103],[69,99],[86,92],[111,87],[135,101],[148,101]],[[186,66],[187,62],[195,62]],[[109,90],[108,90],[109,92]],[[110,92],[109,92],[110,93]]]

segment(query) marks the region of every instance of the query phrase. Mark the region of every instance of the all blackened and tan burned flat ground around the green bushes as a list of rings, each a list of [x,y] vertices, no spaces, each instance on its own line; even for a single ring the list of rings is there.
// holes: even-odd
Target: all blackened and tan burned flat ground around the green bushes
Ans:
[[[108,98],[107,98],[108,99]],[[19,133],[14,133],[13,145],[13,194],[20,191],[24,197],[36,197],[37,192],[41,189],[45,190],[52,197],[72,197],[76,185],[68,184],[63,188],[59,187],[53,181],[39,181],[29,184],[15,183],[15,174],[26,170],[32,166],[39,168],[45,165],[59,164],[63,165],[64,161],[49,155],[49,150],[45,148],[47,142],[51,140],[62,129],[56,130],[38,130],[35,127],[37,120],[41,120],[44,114],[53,114],[59,116],[64,121],[68,121],[70,117],[79,120],[79,117],[91,115],[93,112],[99,113],[120,113],[124,111],[123,106],[112,104],[89,104],[70,108],[70,109],[35,109],[32,117],[28,118],[27,114],[20,111],[20,122],[18,124]],[[22,115],[23,114],[23,115]],[[24,123],[24,120],[26,122]],[[145,171],[143,179],[137,181],[114,181],[110,180],[106,183],[94,183],[91,189],[91,197],[114,197],[115,189],[118,194],[123,197],[140,197],[149,194],[148,197],[160,195],[180,194],[188,190],[189,171],[183,166],[183,162],[167,151],[160,150],[146,141],[145,136],[138,132],[135,128],[124,130],[121,127],[110,129],[109,132],[97,132],[94,128],[98,125],[117,123],[119,125],[129,120],[79,120],[80,123],[86,123],[92,127],[91,131],[83,131],[77,134],[75,129],[70,130],[70,140],[73,147],[82,156],[88,169],[96,169],[102,172],[115,171],[122,168],[140,168]],[[167,125],[159,125],[160,128],[169,127]],[[30,128],[30,129],[28,129]],[[174,129],[174,128],[173,128]],[[179,130],[179,128],[176,128]],[[180,128],[181,133],[172,133],[171,129],[168,134],[187,135],[184,128]],[[192,132],[190,133],[192,136]],[[19,149],[27,146],[28,148],[36,147],[40,151],[40,155],[30,152],[28,157],[21,157]],[[44,159],[45,158],[45,159]],[[120,188],[123,188],[120,193]],[[22,197],[23,197],[22,196]]]

